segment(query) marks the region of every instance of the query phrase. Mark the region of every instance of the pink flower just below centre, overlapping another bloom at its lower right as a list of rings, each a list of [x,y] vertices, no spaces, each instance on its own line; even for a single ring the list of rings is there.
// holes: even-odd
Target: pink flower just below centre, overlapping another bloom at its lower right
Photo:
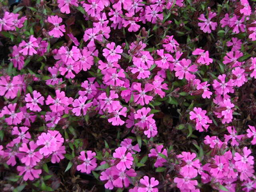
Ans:
[[[134,114],[134,119],[136,119],[138,122],[136,125],[138,125],[141,128],[147,127],[148,124],[150,124],[154,119],[152,118],[154,114],[148,115],[150,113],[150,108],[141,108],[136,111]],[[148,116],[147,116],[148,115]],[[128,116],[129,117],[129,116]]]

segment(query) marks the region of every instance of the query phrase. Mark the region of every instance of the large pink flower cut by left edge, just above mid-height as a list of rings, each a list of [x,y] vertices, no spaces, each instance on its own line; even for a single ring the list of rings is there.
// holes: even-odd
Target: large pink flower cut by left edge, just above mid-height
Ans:
[[[21,92],[21,84],[19,76],[13,77],[10,81],[10,76],[0,77],[0,95],[7,99],[14,99],[17,97],[18,92]]]

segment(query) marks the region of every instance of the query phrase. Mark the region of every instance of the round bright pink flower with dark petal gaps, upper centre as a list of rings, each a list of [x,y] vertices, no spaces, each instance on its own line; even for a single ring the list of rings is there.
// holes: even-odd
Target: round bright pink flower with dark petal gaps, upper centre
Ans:
[[[115,62],[121,59],[121,53],[123,52],[123,49],[120,45],[117,45],[115,48],[115,43],[111,42],[110,44],[107,44],[106,47],[108,49],[103,49],[103,56],[106,58],[107,61]]]

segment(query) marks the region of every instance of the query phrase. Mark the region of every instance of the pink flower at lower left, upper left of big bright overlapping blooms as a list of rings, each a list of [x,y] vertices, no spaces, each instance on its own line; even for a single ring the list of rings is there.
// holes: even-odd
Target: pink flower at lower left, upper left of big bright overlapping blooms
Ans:
[[[13,127],[12,135],[17,135],[18,137],[13,140],[13,143],[28,143],[29,139],[31,139],[31,135],[28,132],[28,127]]]

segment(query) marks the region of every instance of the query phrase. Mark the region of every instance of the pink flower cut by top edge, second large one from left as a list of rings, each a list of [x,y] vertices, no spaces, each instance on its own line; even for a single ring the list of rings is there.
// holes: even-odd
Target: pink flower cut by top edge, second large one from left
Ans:
[[[83,3],[83,8],[88,15],[95,17],[104,9],[104,4],[100,0],[88,0],[88,4]]]

